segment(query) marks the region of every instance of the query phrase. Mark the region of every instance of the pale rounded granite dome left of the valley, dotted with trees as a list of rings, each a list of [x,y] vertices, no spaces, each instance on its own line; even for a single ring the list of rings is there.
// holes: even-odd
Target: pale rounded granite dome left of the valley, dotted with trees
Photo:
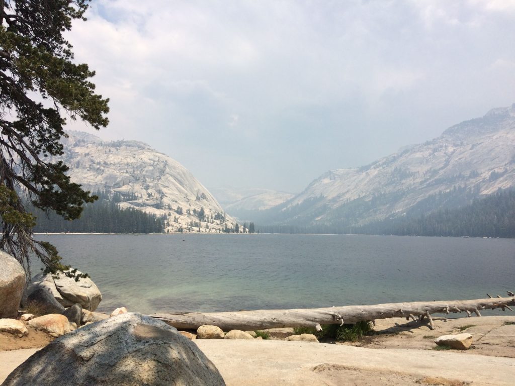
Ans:
[[[59,157],[68,176],[85,190],[114,192],[122,208],[167,217],[167,232],[222,232],[236,221],[225,214],[193,174],[169,156],[137,141],[104,142],[83,132],[68,132]]]

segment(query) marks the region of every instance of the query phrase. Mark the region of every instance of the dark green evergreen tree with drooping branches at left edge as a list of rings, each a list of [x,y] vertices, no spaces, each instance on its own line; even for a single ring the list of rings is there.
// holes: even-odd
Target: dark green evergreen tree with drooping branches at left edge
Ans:
[[[72,183],[61,161],[59,140],[65,117],[105,127],[108,99],[95,94],[87,64],[72,62],[72,46],[63,32],[84,19],[88,0],[0,0],[0,248],[30,273],[37,256],[46,272],[67,267],[53,245],[32,238],[34,218],[21,195],[34,206],[67,220],[80,216],[95,196]],[[85,19],[84,19],[85,20]]]

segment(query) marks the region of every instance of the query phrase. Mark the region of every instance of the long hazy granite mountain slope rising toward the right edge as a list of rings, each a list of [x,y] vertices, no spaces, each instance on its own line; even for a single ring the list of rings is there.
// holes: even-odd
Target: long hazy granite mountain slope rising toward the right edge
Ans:
[[[259,224],[365,224],[455,208],[515,185],[515,104],[367,166],[329,171]]]

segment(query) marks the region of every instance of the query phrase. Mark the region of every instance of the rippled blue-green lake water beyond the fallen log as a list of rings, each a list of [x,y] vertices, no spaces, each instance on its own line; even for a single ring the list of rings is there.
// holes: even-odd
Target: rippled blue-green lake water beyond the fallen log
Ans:
[[[515,291],[515,240],[355,235],[39,235],[144,313],[478,299]],[[36,270],[36,267],[34,267]],[[492,314],[485,312],[486,314]],[[502,311],[497,311],[499,313]]]

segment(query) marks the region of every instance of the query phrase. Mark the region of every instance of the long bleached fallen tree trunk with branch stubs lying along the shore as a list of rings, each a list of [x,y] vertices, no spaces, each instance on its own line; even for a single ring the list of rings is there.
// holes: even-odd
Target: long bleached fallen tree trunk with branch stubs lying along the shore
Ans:
[[[508,292],[510,294],[510,292]],[[427,318],[433,329],[433,313],[472,312],[478,317],[480,310],[515,306],[515,297],[501,297],[476,300],[450,300],[438,302],[387,303],[372,306],[342,306],[328,308],[298,308],[287,310],[255,310],[234,312],[190,312],[183,314],[156,313],[151,315],[167,324],[183,329],[197,329],[209,324],[220,327],[224,331],[232,329],[260,330],[281,327],[316,327],[322,324],[354,324],[359,321],[371,321],[393,317],[405,317],[422,321]]]

